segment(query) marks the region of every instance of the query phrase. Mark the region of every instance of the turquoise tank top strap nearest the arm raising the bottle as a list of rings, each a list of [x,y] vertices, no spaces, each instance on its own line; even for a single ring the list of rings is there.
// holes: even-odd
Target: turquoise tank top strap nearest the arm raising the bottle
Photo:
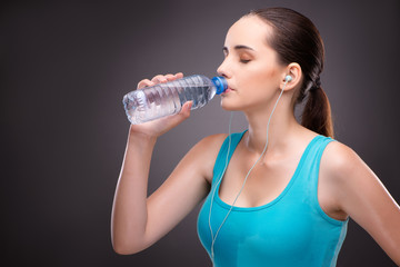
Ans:
[[[213,178],[212,178],[212,186],[214,186],[214,184],[219,180],[219,178],[221,177],[226,166],[228,166],[234,149],[237,148],[238,144],[240,142],[240,140],[242,139],[244,132],[247,130],[242,131],[242,132],[234,132],[231,134],[230,136],[228,136],[216,159],[216,164],[213,167]],[[229,140],[230,139],[230,140]],[[230,144],[229,144],[230,142]],[[229,151],[228,151],[229,150]],[[228,155],[229,152],[229,155]]]

